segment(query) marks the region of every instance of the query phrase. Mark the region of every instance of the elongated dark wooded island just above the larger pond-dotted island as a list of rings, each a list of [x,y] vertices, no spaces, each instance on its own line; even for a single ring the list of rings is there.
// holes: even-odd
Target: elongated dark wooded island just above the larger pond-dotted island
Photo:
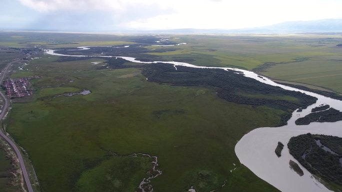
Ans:
[[[342,120],[342,112],[330,108],[325,111],[318,111],[310,113],[305,117],[298,118],[295,120],[296,125],[308,125],[312,122],[335,122]]]

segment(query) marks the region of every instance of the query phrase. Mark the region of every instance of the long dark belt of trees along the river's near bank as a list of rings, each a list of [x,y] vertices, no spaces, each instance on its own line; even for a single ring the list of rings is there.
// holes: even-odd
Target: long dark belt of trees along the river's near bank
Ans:
[[[293,110],[306,108],[317,98],[296,91],[284,90],[270,86],[243,74],[236,74],[231,70],[200,69],[177,66],[177,70],[170,64],[146,65],[142,74],[148,81],[170,83],[177,86],[206,87],[216,92],[217,96],[230,102],[269,106],[288,111],[282,116],[278,126],[285,125]]]

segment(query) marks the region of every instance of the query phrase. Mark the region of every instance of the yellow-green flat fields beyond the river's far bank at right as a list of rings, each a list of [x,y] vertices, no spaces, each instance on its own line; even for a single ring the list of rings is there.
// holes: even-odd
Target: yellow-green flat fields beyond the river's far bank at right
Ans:
[[[302,83],[306,87],[342,93],[340,36],[200,36],[187,35],[177,39],[188,44],[179,50],[150,52],[164,60],[194,59],[191,64],[237,67],[254,70],[264,63],[270,66],[256,70],[259,73],[287,83]],[[150,47],[152,51],[162,49]]]

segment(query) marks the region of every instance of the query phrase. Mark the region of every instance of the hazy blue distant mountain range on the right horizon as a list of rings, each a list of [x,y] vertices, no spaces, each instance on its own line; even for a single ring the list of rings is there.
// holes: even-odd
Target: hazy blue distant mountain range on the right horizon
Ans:
[[[342,32],[342,19],[322,19],[311,21],[287,21],[273,25],[241,29],[170,29],[153,30],[160,33],[317,33]]]

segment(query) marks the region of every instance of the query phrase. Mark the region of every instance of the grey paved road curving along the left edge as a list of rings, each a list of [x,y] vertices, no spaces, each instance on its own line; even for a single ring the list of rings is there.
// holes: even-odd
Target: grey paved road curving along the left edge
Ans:
[[[0,75],[0,83],[2,83],[3,81],[3,78],[5,77],[6,73],[7,73],[7,70],[9,68],[9,66],[12,64],[12,63],[15,63],[15,62],[18,62],[18,60],[15,60],[15,61],[12,61],[10,63],[7,64],[7,66],[3,69],[1,75]],[[3,93],[0,91],[0,96],[3,98],[4,100],[4,105],[3,105],[3,108],[2,108],[2,111],[0,113],[0,119],[3,118],[3,116],[5,115],[6,113],[6,109],[8,107],[8,100],[7,100],[7,97],[3,95]],[[20,168],[22,170],[22,174],[23,174],[23,177],[24,177],[24,180],[25,180],[25,183],[26,183],[26,186],[27,186],[27,189],[28,189],[28,192],[33,192],[33,189],[32,189],[32,186],[31,186],[31,183],[29,181],[29,177],[28,177],[28,174],[27,174],[27,171],[26,171],[26,167],[25,167],[25,164],[24,164],[24,161],[22,159],[22,156],[21,156],[21,153],[19,151],[19,149],[16,147],[16,145],[2,132],[2,129],[0,129],[0,136],[5,139],[8,144],[14,149],[15,153],[16,153],[16,156],[18,157],[19,159],[19,163],[20,163]]]

